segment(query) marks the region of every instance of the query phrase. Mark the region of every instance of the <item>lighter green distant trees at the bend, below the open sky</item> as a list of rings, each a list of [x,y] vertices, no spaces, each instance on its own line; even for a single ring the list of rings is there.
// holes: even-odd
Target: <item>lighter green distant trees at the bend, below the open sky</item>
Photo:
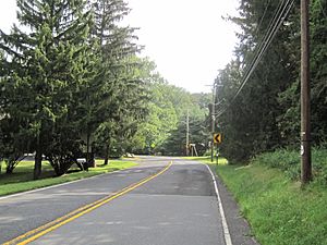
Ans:
[[[144,76],[148,77],[150,101],[148,117],[143,122],[132,143],[132,150],[140,154],[184,155],[186,114],[190,114],[190,143],[205,149],[208,134],[205,119],[208,113],[206,94],[190,94],[183,88],[169,85],[145,60]],[[201,152],[202,154],[202,152]]]

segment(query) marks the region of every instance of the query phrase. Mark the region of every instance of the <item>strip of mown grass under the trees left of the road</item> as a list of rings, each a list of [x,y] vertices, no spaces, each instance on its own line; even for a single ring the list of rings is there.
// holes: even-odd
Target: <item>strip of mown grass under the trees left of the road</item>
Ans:
[[[72,169],[70,173],[62,176],[56,176],[51,166],[48,162],[43,163],[41,179],[33,181],[33,161],[22,161],[14,169],[13,174],[0,174],[0,196],[40,188],[45,186],[61,184],[70,181],[85,179],[101,173],[112,172],[116,170],[131,168],[136,166],[132,161],[111,160],[108,166],[101,166],[102,161],[97,161],[97,168],[89,168],[88,172]]]

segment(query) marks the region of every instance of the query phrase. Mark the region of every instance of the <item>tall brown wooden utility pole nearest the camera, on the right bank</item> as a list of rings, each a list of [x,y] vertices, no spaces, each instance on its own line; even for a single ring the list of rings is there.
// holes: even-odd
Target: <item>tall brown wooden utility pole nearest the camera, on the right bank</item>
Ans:
[[[310,30],[308,2],[301,0],[301,181],[312,180],[310,123]]]

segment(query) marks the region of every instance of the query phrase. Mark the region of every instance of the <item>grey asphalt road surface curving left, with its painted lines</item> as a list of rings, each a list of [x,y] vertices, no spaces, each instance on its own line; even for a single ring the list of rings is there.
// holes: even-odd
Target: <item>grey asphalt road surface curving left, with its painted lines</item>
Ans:
[[[205,164],[142,157],[129,170],[0,198],[0,243],[256,244],[218,186],[222,206]]]

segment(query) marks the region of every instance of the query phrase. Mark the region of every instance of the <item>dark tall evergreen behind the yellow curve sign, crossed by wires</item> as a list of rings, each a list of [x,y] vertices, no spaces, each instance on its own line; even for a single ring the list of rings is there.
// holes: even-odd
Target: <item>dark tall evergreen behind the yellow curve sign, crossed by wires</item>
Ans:
[[[296,24],[296,8],[287,25],[282,25],[270,46],[265,51],[261,62],[251,74],[241,93],[242,77],[252,68],[251,61],[270,26],[277,24],[274,20],[280,2],[242,0],[240,17],[233,19],[242,32],[239,34],[240,45],[237,47],[237,59],[218,76],[223,87],[218,89],[218,98],[225,99],[226,113],[218,119],[225,132],[222,149],[230,158],[246,160],[253,155],[280,147],[282,135],[278,124],[284,108],[280,107],[279,95],[298,76],[296,63],[289,49],[293,28]],[[219,108],[218,108],[219,110]]]

